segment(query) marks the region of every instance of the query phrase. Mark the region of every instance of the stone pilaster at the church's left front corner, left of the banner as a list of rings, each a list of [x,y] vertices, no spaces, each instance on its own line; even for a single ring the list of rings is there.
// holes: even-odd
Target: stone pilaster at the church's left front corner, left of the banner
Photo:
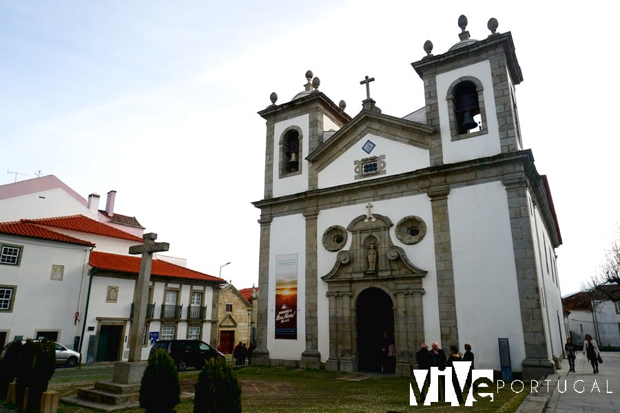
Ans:
[[[252,352],[252,364],[269,366],[267,349],[267,302],[269,297],[269,239],[271,237],[271,217],[261,218],[260,253],[258,255],[258,314],[256,315],[256,348]]]

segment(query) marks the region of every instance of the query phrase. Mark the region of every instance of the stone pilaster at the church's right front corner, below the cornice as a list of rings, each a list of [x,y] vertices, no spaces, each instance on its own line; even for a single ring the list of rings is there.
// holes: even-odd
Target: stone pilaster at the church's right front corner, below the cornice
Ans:
[[[523,376],[524,379],[538,378],[555,373],[555,369],[550,361],[550,354],[547,353],[527,181],[524,177],[516,177],[504,180],[503,183],[508,196],[508,213],[510,214],[510,230],[513,234],[521,324],[523,324],[526,350]]]

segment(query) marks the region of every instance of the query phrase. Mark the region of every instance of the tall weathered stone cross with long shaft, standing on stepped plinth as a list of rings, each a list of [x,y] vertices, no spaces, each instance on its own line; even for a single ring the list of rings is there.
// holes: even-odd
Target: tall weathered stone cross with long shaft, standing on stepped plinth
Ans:
[[[142,337],[146,320],[147,301],[149,299],[149,283],[151,279],[151,264],[153,253],[168,251],[170,244],[167,242],[155,242],[156,233],[147,233],[142,236],[142,245],[130,246],[130,254],[142,254],[140,260],[140,273],[138,282],[134,290],[134,318],[130,327],[129,335],[129,361],[141,361],[142,358]]]

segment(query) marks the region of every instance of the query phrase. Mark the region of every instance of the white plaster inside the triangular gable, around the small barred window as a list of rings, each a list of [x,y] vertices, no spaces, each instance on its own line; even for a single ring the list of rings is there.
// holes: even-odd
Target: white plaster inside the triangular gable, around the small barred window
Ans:
[[[377,145],[370,154],[362,150],[366,140]],[[386,167],[383,175],[369,176],[364,180],[382,178],[397,173],[415,171],[431,166],[428,150],[420,149],[403,142],[382,138],[375,134],[365,134],[352,147],[338,156],[331,164],[318,173],[318,187],[329,188],[340,184],[355,182],[355,161],[369,156],[385,155]]]

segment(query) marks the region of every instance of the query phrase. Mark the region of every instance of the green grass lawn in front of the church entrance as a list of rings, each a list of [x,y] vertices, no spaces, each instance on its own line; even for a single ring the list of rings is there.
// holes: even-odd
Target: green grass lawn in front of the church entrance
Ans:
[[[494,401],[474,402],[473,407],[450,407],[447,403],[431,406],[409,406],[409,382],[411,377],[375,375],[361,379],[361,374],[344,374],[320,370],[293,368],[266,368],[247,366],[236,370],[241,385],[243,412],[515,412],[526,392],[515,394],[509,389],[494,392]],[[82,377],[87,374],[87,378]],[[76,383],[68,383],[63,375],[52,378],[50,390],[61,395],[74,394],[77,387],[94,377],[89,368],[74,370],[71,376]],[[179,374],[181,388],[193,392],[198,371]],[[94,378],[97,379],[97,378]],[[110,379],[110,375],[99,379]],[[360,380],[361,379],[361,380]],[[1,403],[1,402],[0,402]],[[10,407],[3,406],[0,407]],[[182,401],[176,406],[178,413],[191,413],[192,401]],[[59,413],[91,413],[94,410],[62,403]],[[143,412],[127,409],[123,413]]]

